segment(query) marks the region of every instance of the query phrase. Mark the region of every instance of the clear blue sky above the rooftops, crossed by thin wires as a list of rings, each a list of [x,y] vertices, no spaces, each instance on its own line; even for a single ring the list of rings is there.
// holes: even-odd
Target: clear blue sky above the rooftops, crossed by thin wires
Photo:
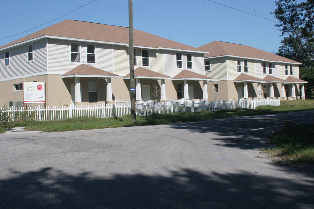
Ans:
[[[49,22],[91,0],[11,0],[1,3],[0,46],[40,29],[73,19],[128,27],[128,0],[98,0]],[[275,0],[213,0],[229,7],[277,21],[270,12]],[[182,44],[199,47],[214,40],[249,45],[267,52],[281,45],[275,22],[208,0],[133,0],[134,28]],[[23,31],[26,33],[2,39]]]

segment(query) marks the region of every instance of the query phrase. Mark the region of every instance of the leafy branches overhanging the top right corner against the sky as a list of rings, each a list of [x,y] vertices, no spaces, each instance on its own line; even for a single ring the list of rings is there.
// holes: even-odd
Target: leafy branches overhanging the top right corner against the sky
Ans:
[[[280,27],[282,35],[292,33],[302,27],[303,37],[313,38],[314,30],[314,0],[306,0],[301,3],[295,0],[279,0],[275,2],[277,8],[272,13],[280,22],[275,26]]]

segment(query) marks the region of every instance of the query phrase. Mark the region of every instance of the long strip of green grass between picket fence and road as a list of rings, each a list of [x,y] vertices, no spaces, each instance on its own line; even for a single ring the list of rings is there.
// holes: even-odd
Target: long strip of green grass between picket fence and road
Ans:
[[[61,132],[73,130],[88,130],[99,128],[116,128],[127,126],[145,126],[170,123],[185,123],[220,118],[263,115],[269,113],[295,112],[314,110],[314,100],[281,101],[280,106],[260,106],[253,109],[221,110],[216,112],[179,112],[168,114],[151,114],[148,117],[137,116],[136,122],[131,122],[130,115],[118,118],[70,118],[54,121],[16,122],[14,127],[26,127],[27,130],[44,132]],[[0,130],[1,131],[1,130]]]

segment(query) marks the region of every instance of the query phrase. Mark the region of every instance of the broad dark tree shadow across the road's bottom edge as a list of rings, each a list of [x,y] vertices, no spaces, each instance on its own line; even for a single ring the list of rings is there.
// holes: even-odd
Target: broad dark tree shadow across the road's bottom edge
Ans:
[[[43,168],[0,180],[0,208],[314,208],[313,182],[257,173],[69,175]]]

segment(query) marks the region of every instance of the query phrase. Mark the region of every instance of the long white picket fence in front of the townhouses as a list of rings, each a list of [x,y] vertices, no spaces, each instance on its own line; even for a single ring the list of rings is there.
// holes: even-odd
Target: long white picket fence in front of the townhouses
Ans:
[[[172,112],[199,112],[199,111],[217,111],[231,110],[236,108],[254,109],[261,105],[279,106],[279,99],[253,99],[253,100],[225,100],[225,101],[207,101],[207,100],[184,100],[176,99],[166,102],[137,101],[135,104],[136,114],[148,116],[157,113]],[[53,106],[53,107],[27,107],[5,109],[12,120],[62,120],[78,117],[108,118],[120,117],[131,113],[130,101],[116,101],[115,104],[102,105],[80,105],[80,106]]]

